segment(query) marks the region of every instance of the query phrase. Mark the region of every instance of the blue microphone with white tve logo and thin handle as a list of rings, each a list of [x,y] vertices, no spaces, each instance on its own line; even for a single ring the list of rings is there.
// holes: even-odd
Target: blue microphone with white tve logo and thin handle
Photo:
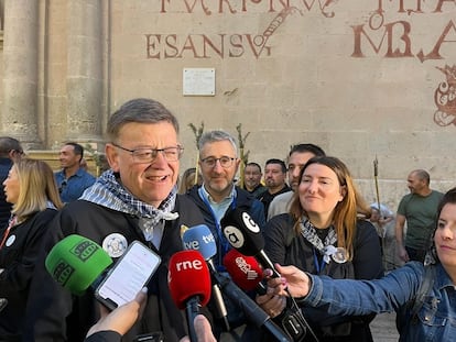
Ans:
[[[198,251],[203,255],[209,267],[210,274],[217,272],[213,261],[213,256],[217,254],[217,246],[214,235],[206,224],[198,224],[183,231],[182,241],[185,250]],[[214,282],[213,285],[213,298],[217,308],[217,318],[222,320],[225,329],[229,331],[228,311],[225,307],[220,287],[216,282]]]

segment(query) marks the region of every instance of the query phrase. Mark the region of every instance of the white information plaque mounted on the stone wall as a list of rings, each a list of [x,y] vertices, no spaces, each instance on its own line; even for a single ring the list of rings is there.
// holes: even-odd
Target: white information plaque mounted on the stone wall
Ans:
[[[215,68],[184,68],[184,96],[215,96]]]

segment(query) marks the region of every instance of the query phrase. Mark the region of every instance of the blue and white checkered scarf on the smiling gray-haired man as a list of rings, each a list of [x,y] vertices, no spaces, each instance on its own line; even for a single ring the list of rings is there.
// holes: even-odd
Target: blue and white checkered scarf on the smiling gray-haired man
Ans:
[[[162,220],[175,220],[178,218],[178,212],[172,212],[175,206],[176,192],[177,189],[174,186],[170,195],[156,209],[135,199],[119,183],[115,173],[109,169],[98,177],[91,187],[84,191],[80,199],[140,218],[143,221],[143,224],[140,224],[141,229],[145,235],[150,235]]]

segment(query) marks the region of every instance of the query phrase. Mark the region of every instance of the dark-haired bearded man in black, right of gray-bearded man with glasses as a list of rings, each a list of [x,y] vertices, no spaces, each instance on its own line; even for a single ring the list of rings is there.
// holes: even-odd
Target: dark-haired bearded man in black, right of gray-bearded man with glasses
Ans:
[[[291,191],[291,188],[285,183],[286,166],[281,159],[268,159],[264,166],[264,184],[267,191],[260,196],[260,200],[264,206],[264,214],[268,218],[269,206],[272,200],[284,192]]]

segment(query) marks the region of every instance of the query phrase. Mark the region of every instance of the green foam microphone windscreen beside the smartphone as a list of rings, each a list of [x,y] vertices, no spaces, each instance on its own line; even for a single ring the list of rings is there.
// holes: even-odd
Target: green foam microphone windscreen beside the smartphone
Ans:
[[[56,243],[45,261],[51,276],[75,295],[82,295],[110,264],[100,245],[76,234]]]

